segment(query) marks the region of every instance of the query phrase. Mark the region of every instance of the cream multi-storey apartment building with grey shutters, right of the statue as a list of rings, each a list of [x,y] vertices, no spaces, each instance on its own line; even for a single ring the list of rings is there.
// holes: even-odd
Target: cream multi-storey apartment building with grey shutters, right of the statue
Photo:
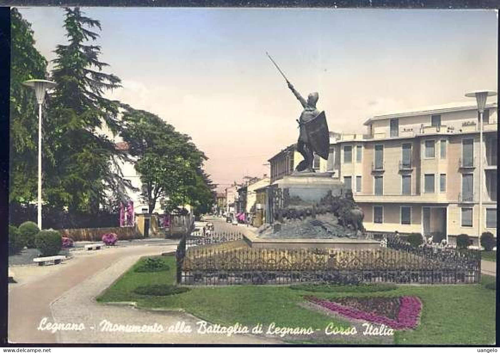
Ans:
[[[487,104],[482,155],[473,103],[377,115],[364,123],[366,135],[342,135],[339,176],[364,210],[366,229],[441,232],[450,243],[466,233],[474,245],[483,231],[496,236],[496,123],[496,104]]]

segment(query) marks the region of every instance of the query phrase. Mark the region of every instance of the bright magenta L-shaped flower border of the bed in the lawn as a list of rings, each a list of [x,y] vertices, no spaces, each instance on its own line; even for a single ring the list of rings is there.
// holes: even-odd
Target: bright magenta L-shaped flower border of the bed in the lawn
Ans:
[[[397,319],[392,319],[373,312],[359,310],[350,306],[344,306],[334,301],[320,299],[315,296],[305,296],[305,299],[328,310],[339,313],[342,316],[354,319],[366,320],[374,323],[383,323],[394,329],[415,328],[422,308],[420,299],[416,296],[402,296],[399,298],[399,312]]]

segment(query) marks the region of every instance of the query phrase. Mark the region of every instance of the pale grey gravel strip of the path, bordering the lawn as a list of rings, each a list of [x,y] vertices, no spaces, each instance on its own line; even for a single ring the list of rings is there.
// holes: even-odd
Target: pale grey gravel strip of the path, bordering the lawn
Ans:
[[[173,250],[173,246],[169,250]],[[55,322],[83,323],[80,331],[59,331],[56,340],[59,343],[276,343],[276,340],[236,334],[200,334],[196,330],[200,321],[183,311],[157,311],[136,309],[132,305],[112,305],[95,302],[95,297],[111,285],[140,256],[157,254],[157,251],[129,255],[110,267],[96,273],[84,282],[66,291],[51,305]],[[159,332],[121,332],[102,331],[102,322],[123,325],[162,325]],[[168,327],[190,325],[192,333],[168,332]]]

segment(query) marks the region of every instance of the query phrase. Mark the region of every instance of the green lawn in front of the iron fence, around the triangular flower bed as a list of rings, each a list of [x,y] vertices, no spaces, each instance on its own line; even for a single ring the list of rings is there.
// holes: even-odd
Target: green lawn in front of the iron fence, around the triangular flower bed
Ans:
[[[173,256],[168,256],[167,260],[170,269],[166,272],[134,272],[135,264],[97,300],[136,301],[141,307],[182,308],[206,321],[224,325],[236,322],[246,325],[261,322],[267,325],[275,322],[278,326],[312,326],[313,329],[323,330],[329,322],[338,326],[349,326],[349,323],[298,306],[297,303],[304,301],[302,295],[313,294],[325,298],[416,295],[423,303],[420,324],[413,331],[397,331],[394,343],[491,344],[495,339],[495,291],[481,284],[400,285],[395,290],[359,293],[310,292],[267,285],[192,287],[188,292],[163,297],[132,292],[139,285],[173,283],[175,260]],[[484,281],[491,281],[488,277]]]

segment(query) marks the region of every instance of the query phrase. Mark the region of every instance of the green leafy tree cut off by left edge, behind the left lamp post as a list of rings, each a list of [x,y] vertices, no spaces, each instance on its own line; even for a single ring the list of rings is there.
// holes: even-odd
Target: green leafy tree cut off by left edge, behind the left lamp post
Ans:
[[[10,10],[10,170],[9,202],[27,204],[36,199],[38,117],[27,79],[45,78],[47,61],[34,47],[31,24],[16,8]]]

